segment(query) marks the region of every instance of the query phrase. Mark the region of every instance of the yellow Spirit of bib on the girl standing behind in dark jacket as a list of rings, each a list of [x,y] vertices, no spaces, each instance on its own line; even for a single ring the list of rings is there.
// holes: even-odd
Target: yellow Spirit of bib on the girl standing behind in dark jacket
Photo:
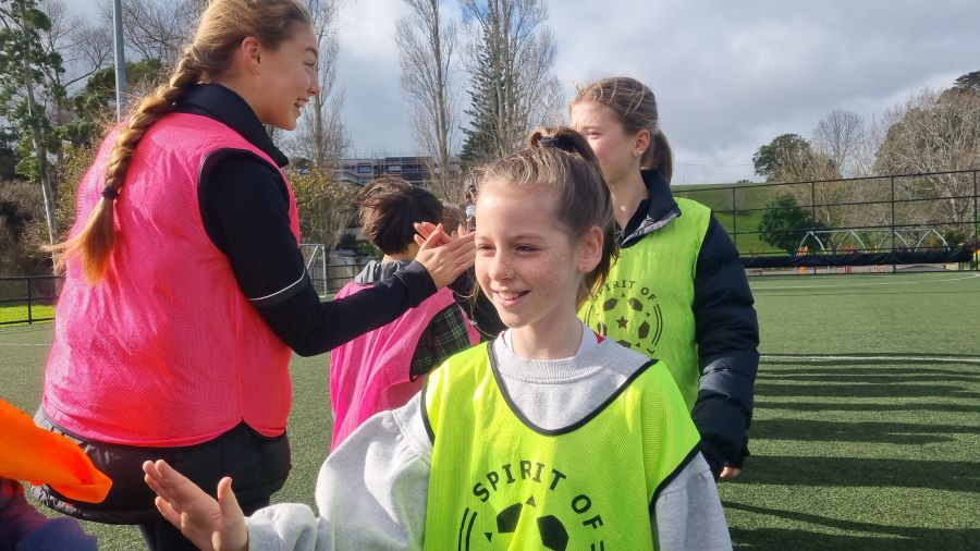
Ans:
[[[694,280],[711,209],[677,198],[682,215],[620,250],[605,284],[578,310],[597,333],[662,359],[687,408],[698,397]]]

